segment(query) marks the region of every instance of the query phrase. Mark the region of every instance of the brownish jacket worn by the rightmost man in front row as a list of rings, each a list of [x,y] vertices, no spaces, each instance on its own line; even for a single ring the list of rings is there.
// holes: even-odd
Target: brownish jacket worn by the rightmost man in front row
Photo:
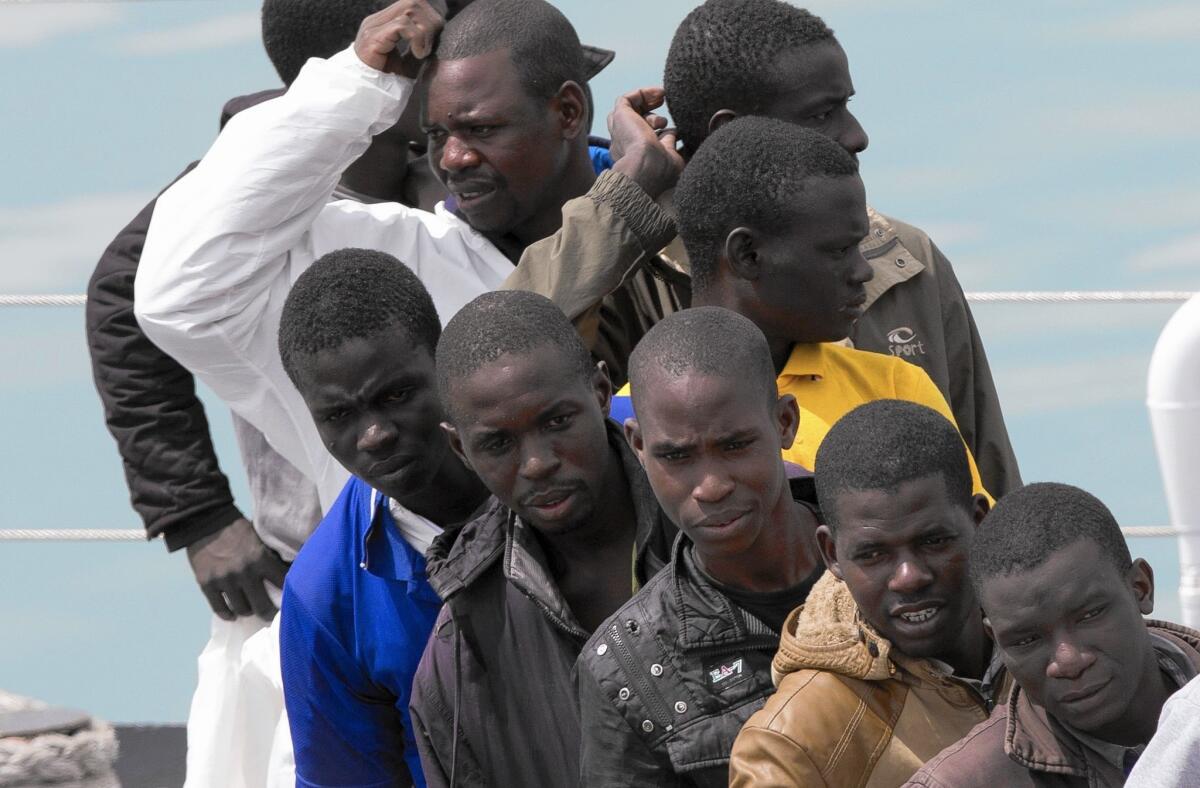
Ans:
[[[1200,632],[1166,621],[1146,621],[1162,663],[1162,644],[1183,652],[1189,673],[1200,672]],[[1168,646],[1170,648],[1170,646]],[[1120,788],[1123,769],[1085,746],[1020,687],[986,722],[948,747],[912,777],[905,788]]]

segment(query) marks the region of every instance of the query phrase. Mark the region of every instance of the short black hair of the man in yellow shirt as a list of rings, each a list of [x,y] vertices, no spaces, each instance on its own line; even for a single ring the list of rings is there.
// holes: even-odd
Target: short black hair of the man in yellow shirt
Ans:
[[[679,176],[679,235],[692,287],[712,281],[728,234],[742,225],[784,224],[803,207],[810,178],[858,174],[854,157],[824,134],[769,118],[738,118],[701,146]]]

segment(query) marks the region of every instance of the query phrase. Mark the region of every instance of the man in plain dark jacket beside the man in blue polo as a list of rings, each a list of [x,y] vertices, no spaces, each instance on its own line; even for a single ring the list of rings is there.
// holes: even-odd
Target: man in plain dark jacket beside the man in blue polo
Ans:
[[[450,445],[493,498],[434,541],[445,607],[413,685],[431,786],[575,787],[572,666],[665,563],[674,529],[566,317],[520,290],[479,296],[438,342]]]

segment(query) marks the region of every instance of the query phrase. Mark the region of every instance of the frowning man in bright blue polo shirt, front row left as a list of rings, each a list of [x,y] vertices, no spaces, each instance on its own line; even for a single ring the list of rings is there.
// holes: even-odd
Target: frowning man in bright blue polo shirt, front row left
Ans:
[[[440,428],[440,332],[420,279],[382,252],[325,254],[283,305],[283,368],[353,474],[283,588],[298,786],[425,784],[408,702],[442,603],[422,553],[487,497]]]

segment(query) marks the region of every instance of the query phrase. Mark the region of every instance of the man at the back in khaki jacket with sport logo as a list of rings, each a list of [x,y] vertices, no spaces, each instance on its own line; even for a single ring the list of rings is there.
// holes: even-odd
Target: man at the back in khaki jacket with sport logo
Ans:
[[[851,113],[846,53],[824,22],[782,0],[707,0],[679,24],[664,74],[684,154],[754,114],[812,128],[856,160],[868,137]],[[950,261],[920,229],[868,209],[859,251],[875,276],[851,331],[856,348],[923,368],[954,413],[984,486],[1020,486],[988,356]]]

